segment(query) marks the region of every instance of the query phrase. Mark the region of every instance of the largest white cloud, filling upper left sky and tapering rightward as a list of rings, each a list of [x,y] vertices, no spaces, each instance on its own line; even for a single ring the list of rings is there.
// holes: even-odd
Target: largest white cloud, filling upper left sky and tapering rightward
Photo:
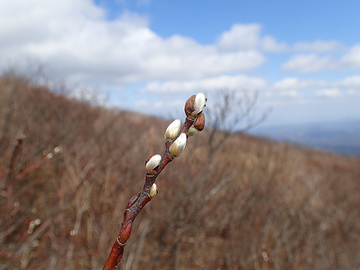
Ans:
[[[126,85],[194,79],[249,71],[266,61],[250,43],[220,51],[185,36],[163,38],[136,14],[108,21],[90,0],[6,2],[0,8],[0,59],[36,59],[70,81]],[[240,28],[258,38],[258,26]]]

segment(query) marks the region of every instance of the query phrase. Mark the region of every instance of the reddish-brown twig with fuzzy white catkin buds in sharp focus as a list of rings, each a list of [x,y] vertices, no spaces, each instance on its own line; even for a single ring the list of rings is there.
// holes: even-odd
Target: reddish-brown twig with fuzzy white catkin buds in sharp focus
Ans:
[[[186,139],[189,136],[196,135],[198,131],[203,130],[205,117],[202,110],[205,107],[205,102],[206,98],[203,93],[192,95],[185,104],[185,114],[187,117],[181,130],[180,119],[171,123],[165,131],[166,148],[164,154],[162,156],[150,156],[146,160],[146,177],[143,191],[130,198],[127,203],[124,221],[121,223],[120,232],[112,246],[104,270],[114,270],[121,262],[124,254],[124,246],[130,237],[132,224],[136,216],[144,208],[146,203],[158,193],[158,185],[156,182],[158,175],[169,162],[172,162],[175,157],[180,156],[185,148]]]

